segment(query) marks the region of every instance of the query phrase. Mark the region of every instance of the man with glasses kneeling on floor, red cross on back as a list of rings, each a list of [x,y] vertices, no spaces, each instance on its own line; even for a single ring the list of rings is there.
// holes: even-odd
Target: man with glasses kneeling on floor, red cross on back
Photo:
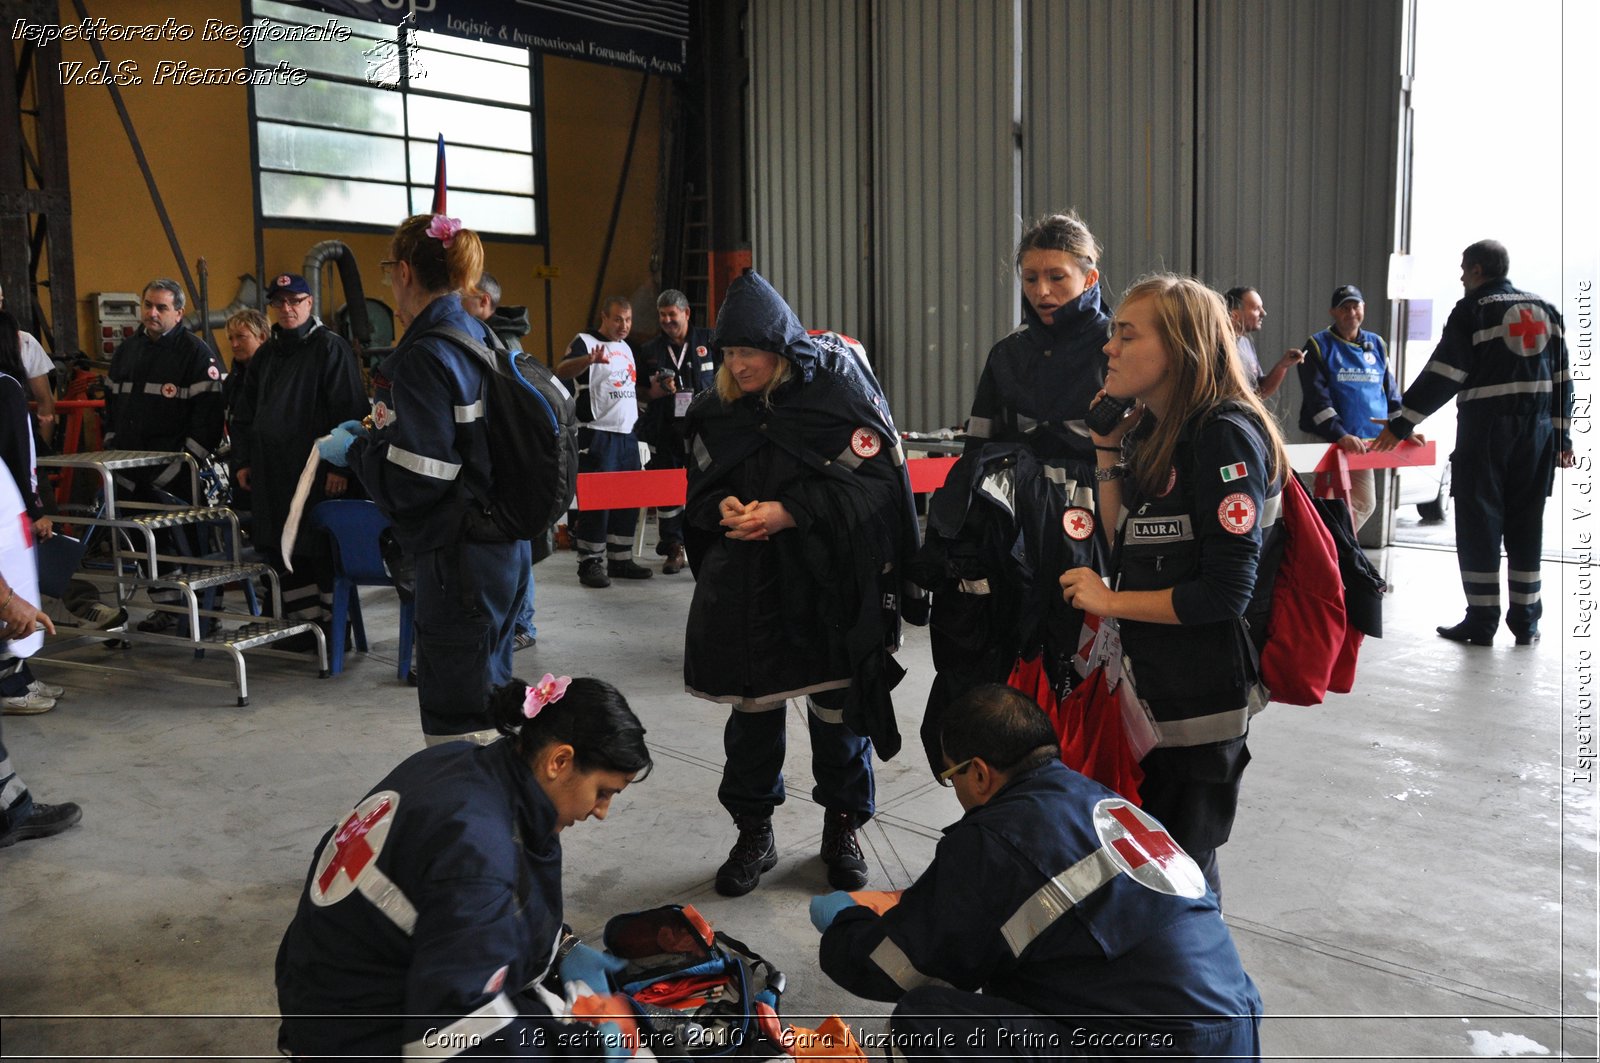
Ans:
[[[893,905],[811,901],[822,970],[896,1002],[898,1055],[1261,1057],[1256,986],[1160,823],[1061,764],[1010,687],[952,703],[941,741],[965,815],[922,877]]]

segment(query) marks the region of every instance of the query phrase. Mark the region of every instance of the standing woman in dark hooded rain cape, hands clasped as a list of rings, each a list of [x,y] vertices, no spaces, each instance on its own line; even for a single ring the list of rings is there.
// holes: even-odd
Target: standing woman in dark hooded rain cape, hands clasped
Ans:
[[[758,274],[717,314],[717,389],[690,407],[685,540],[694,568],[683,648],[690,693],[728,706],[717,797],[739,837],[717,892],[749,893],[778,863],[787,703],[805,700],[827,880],[859,890],[856,831],[872,818],[872,749],[899,749],[910,482],[864,355],[808,333]]]

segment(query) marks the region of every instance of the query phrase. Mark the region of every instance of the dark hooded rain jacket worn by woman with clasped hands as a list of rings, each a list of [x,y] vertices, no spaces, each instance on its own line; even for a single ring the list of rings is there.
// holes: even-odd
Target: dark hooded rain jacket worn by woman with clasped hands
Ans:
[[[917,551],[888,400],[851,344],[808,335],[757,274],[728,288],[715,341],[776,352],[792,376],[771,405],[760,395],[725,403],[707,391],[690,407],[686,688],[747,708],[848,690],[845,724],[886,760],[899,751],[890,690],[904,674],[890,655],[904,564]],[[730,540],[718,512],[728,495],[779,501],[795,527],[765,543]]]

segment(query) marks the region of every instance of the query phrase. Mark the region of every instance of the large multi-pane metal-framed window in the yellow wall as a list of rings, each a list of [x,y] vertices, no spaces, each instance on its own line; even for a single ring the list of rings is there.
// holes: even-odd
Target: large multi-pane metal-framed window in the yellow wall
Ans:
[[[443,134],[448,208],[469,227],[541,237],[539,107],[526,48],[251,0],[251,86],[266,224],[389,229],[426,211]],[[339,27],[304,40],[296,27]],[[347,32],[346,32],[347,30]],[[280,64],[286,64],[280,66]]]

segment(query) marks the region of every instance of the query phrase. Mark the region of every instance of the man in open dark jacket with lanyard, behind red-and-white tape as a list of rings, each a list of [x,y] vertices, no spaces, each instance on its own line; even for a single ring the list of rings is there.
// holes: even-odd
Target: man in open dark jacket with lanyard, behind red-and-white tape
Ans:
[[[651,469],[685,467],[683,432],[690,403],[717,384],[717,359],[709,328],[690,327],[690,299],[667,288],[656,299],[661,331],[638,349],[638,376],[650,405],[638,418],[638,437],[650,443]],[[683,507],[658,509],[656,552],[664,575],[683,572]]]

